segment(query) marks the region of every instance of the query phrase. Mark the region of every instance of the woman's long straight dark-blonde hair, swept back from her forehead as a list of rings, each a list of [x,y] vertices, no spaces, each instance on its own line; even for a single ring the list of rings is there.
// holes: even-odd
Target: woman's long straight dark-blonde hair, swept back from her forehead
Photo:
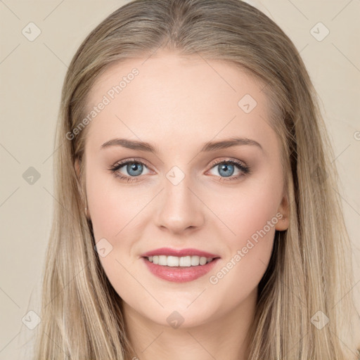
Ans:
[[[56,129],[57,201],[36,359],[127,360],[133,354],[122,299],[99,262],[84,213],[89,126],[71,141],[67,134],[86,116],[89,91],[110,64],[155,56],[158,49],[236,66],[264,84],[269,99],[290,222],[288,230],[276,231],[258,286],[248,359],[355,359],[356,349],[344,344],[353,336],[351,243],[317,94],[288,36],[240,0],[131,1],[105,18],[72,58]],[[321,330],[311,323],[318,311],[330,319]]]

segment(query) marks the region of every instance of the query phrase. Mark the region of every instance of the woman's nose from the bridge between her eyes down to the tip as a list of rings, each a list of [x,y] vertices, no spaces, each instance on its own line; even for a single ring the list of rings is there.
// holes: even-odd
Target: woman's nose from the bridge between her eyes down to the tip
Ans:
[[[155,219],[158,226],[179,232],[203,224],[203,207],[193,194],[192,187],[191,176],[179,167],[172,167],[165,174],[164,191]]]

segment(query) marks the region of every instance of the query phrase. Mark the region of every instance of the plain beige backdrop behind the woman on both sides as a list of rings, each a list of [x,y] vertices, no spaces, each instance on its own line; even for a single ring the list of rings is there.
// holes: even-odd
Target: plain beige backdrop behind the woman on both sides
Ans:
[[[22,319],[38,309],[36,293],[54,201],[53,135],[67,65],[86,34],[126,2],[0,0],[0,359],[17,359],[20,345],[35,331]],[[360,312],[360,1],[248,2],[294,41],[321,98],[357,263],[349,295],[352,290]],[[25,28],[31,36],[30,22],[41,30],[34,41],[22,33]],[[321,41],[326,28],[319,22],[329,30]],[[29,167],[40,174],[32,185],[23,179]]]

